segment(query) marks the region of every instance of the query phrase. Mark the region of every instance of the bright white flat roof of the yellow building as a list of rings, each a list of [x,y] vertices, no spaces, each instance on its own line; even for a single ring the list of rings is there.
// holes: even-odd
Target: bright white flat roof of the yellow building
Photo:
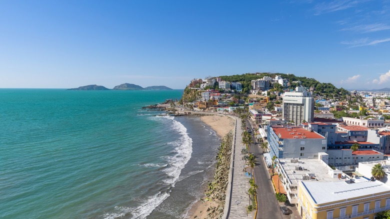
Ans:
[[[323,204],[333,201],[351,200],[364,195],[390,192],[390,186],[380,181],[361,181],[355,183],[337,182],[301,182],[314,203]]]

